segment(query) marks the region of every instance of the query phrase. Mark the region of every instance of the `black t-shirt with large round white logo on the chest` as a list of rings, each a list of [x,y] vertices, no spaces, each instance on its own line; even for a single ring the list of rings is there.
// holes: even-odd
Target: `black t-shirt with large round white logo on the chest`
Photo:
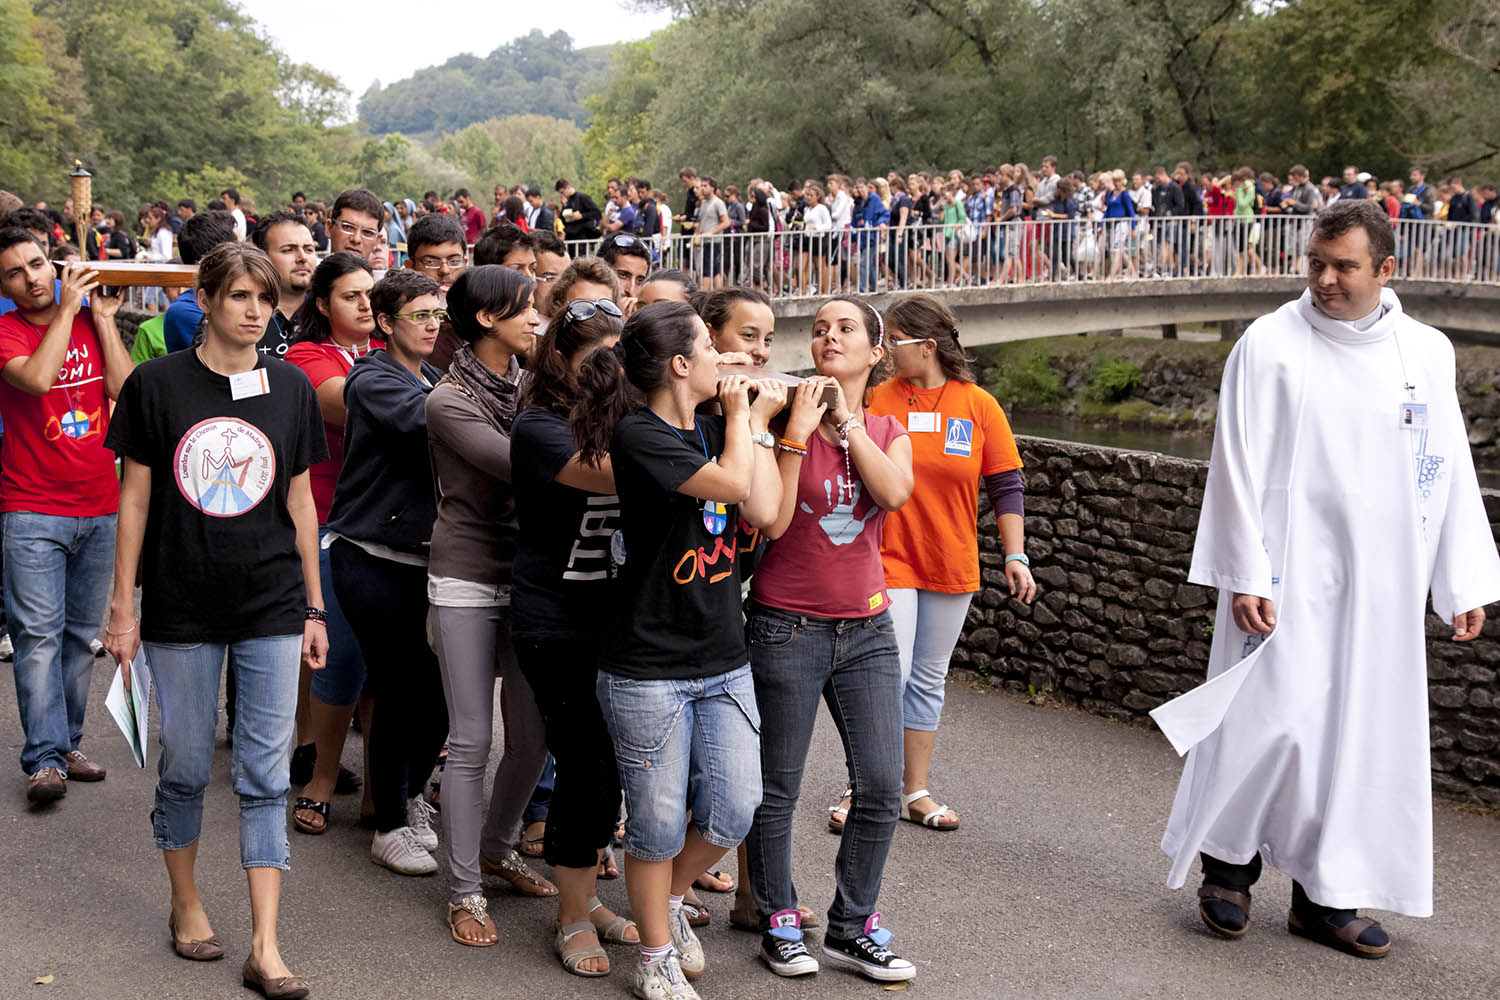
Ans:
[[[261,372],[268,391],[236,400],[196,351],[177,351],[138,366],[120,390],[105,447],[152,471],[141,546],[148,642],[302,634],[286,493],[328,457],[328,442],[302,369],[262,355]]]

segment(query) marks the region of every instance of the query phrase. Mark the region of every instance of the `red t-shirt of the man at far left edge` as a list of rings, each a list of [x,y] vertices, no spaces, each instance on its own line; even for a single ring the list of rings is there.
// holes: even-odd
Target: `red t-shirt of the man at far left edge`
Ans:
[[[0,316],[0,367],[36,354],[45,333],[18,312]],[[51,390],[32,396],[0,379],[0,511],[102,517],[120,510],[114,453],[104,447],[110,397],[93,313],[80,309],[74,318]]]

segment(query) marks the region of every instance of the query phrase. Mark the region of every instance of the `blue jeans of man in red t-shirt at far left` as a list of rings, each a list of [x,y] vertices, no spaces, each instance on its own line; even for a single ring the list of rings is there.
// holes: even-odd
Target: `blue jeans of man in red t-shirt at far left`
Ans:
[[[110,603],[114,514],[58,517],[10,511],[4,520],[4,610],[15,643],[21,769],[68,771],[78,750],[93,675],[90,640]]]

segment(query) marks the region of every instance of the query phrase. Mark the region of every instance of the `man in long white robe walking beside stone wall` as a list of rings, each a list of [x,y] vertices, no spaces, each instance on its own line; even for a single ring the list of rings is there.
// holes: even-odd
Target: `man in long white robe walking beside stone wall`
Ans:
[[[1390,942],[1356,909],[1432,913],[1428,595],[1460,642],[1500,598],[1454,348],[1386,288],[1394,250],[1374,202],[1330,205],[1308,289],[1230,354],[1188,573],[1220,591],[1209,679],[1152,712],[1188,756],[1168,886],[1202,856],[1239,937],[1264,858],[1288,930],[1365,958]]]

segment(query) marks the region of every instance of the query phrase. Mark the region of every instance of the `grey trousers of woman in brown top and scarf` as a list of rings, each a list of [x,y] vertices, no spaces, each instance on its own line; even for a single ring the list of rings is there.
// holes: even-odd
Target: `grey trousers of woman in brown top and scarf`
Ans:
[[[510,646],[508,607],[436,607],[428,618],[448,702],[448,762],[442,768],[442,832],[453,900],[480,891],[478,856],[514,849],[520,813],[537,787],[548,745],[531,685]],[[501,681],[506,753],[484,816],[484,769]],[[483,816],[483,820],[482,820]]]

